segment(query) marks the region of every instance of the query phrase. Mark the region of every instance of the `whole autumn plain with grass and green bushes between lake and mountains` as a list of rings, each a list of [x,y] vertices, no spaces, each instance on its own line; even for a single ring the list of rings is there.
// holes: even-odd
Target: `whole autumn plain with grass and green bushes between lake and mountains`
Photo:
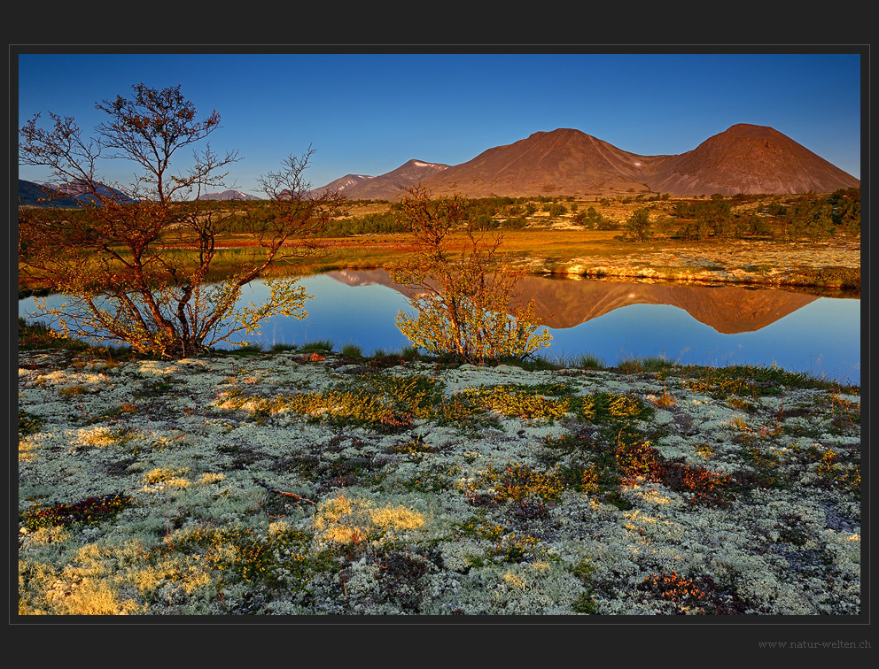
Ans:
[[[860,189],[796,196],[669,197],[460,197],[464,215],[450,231],[449,250],[459,252],[473,232],[501,232],[496,258],[525,273],[564,277],[603,276],[651,281],[703,281],[804,288],[860,289]],[[563,202],[568,211],[549,218],[543,204]],[[540,206],[538,206],[540,205]],[[260,247],[247,232],[250,212],[265,202],[214,202],[226,217],[216,237],[208,281],[253,265]],[[345,268],[393,270],[415,246],[400,201],[347,201],[338,215],[307,236],[285,242],[284,261],[269,277]],[[576,209],[575,209],[576,207]],[[33,216],[33,207],[19,215]],[[636,210],[649,211],[646,227],[627,228]],[[88,219],[90,211],[67,209]],[[828,219],[829,217],[829,219]],[[830,227],[825,224],[830,221]],[[121,248],[124,257],[127,251]],[[176,247],[178,258],[198,262],[197,250]],[[49,277],[20,265],[19,290],[50,289]]]

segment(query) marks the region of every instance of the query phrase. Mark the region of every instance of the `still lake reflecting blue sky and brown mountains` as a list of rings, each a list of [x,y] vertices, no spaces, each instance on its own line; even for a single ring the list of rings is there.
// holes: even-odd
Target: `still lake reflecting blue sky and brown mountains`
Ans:
[[[407,288],[384,270],[343,270],[302,279],[314,298],[307,319],[270,319],[253,341],[331,340],[364,354],[408,346],[394,324],[407,310]],[[777,365],[860,385],[860,299],[790,290],[631,281],[526,277],[553,335],[542,355],[571,360],[591,354],[607,365],[626,358],[664,356],[684,365]],[[261,281],[245,288],[244,302],[267,294]],[[833,295],[833,294],[831,294]],[[55,298],[50,298],[50,304]],[[60,301],[60,300],[58,300]],[[19,301],[19,315],[32,311]]]

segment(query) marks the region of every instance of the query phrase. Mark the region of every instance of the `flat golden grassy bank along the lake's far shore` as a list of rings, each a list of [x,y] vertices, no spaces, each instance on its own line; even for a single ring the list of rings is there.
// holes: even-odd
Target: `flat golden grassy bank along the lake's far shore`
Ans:
[[[548,229],[548,239],[552,241],[553,232],[567,235],[571,230],[571,227]],[[669,242],[667,248],[659,246],[662,240],[606,239],[595,242],[595,252],[575,256],[565,254],[552,244],[528,249],[519,248],[515,242],[516,234],[510,233],[501,256],[526,275],[860,292],[860,235],[840,235],[823,242],[732,240],[710,245],[674,241]],[[316,249],[309,250],[309,257],[299,258],[286,272],[280,272],[281,268],[275,266],[268,275],[310,275],[343,269],[389,270],[410,250],[407,235],[357,235],[344,240],[318,239],[309,243],[316,244]],[[292,247],[299,245],[301,242],[291,244]],[[364,262],[357,256],[346,255],[345,249],[353,245],[360,247],[367,258],[370,250],[380,250],[382,259]],[[602,246],[615,250],[598,251]],[[247,248],[247,245],[236,244],[218,246],[227,250]],[[30,294],[19,282],[19,299]]]

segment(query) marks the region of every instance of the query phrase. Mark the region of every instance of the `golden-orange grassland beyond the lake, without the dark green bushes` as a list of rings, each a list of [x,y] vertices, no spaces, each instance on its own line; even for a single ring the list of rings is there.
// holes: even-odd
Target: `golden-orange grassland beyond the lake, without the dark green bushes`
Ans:
[[[550,217],[548,211],[525,217],[527,227],[498,229],[484,235],[503,235],[499,254],[511,265],[533,274],[552,274],[567,278],[616,276],[653,281],[735,282],[763,285],[818,286],[860,289],[860,235],[826,237],[818,242],[790,241],[779,234],[779,226],[760,238],[727,238],[692,242],[676,235],[682,222],[662,226],[673,219],[677,204],[694,198],[665,198],[644,201],[638,198],[598,198],[564,200],[568,211]],[[696,198],[698,199],[698,198]],[[763,200],[749,198],[734,204],[732,211],[754,210],[760,204],[778,202],[778,196]],[[233,206],[246,206],[234,204]],[[655,221],[652,237],[646,242],[626,240],[620,229],[599,230],[572,223],[573,205],[578,211],[594,207],[603,218],[624,223],[639,208],[650,209]],[[343,219],[390,211],[391,203],[354,202]],[[495,215],[499,222],[505,215]],[[453,235],[451,250],[467,245],[465,235]],[[234,273],[248,260],[259,258],[261,250],[253,238],[228,233],[217,241],[219,252],[210,279]],[[392,269],[414,250],[409,235],[367,234],[335,237],[308,237],[289,242],[285,258],[268,274],[296,275],[340,269]],[[182,249],[181,253],[187,251]],[[19,273],[20,290],[39,290],[38,275]]]

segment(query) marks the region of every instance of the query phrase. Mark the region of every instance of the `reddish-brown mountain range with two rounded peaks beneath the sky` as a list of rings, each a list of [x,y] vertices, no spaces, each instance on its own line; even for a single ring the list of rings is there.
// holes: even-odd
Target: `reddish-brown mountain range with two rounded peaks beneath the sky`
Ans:
[[[573,128],[541,131],[460,165],[410,160],[393,172],[350,186],[345,196],[399,199],[401,188],[415,183],[437,195],[470,197],[648,192],[728,196],[860,188],[851,174],[774,128],[740,123],[694,150],[663,156],[624,151]]]

